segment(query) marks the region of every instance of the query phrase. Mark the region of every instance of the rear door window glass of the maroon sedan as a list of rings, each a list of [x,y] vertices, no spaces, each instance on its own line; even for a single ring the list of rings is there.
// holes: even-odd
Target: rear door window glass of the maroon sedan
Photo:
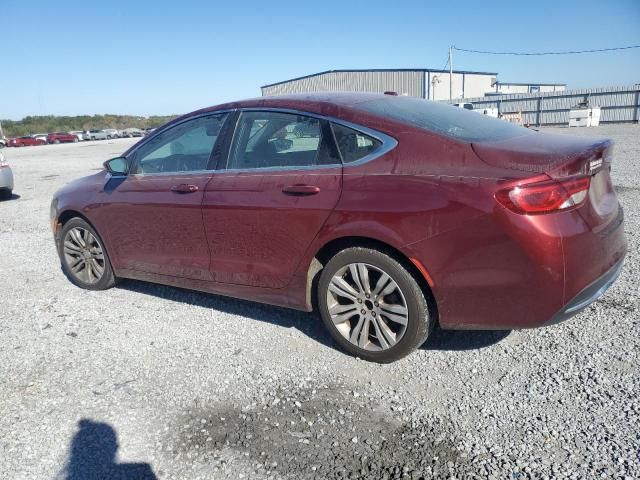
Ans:
[[[227,168],[309,167],[340,163],[326,122],[281,112],[242,112]]]

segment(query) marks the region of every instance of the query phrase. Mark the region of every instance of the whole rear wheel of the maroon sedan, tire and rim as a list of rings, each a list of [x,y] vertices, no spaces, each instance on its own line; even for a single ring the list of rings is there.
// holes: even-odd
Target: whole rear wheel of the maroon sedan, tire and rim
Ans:
[[[325,265],[318,282],[320,315],[352,355],[388,363],[429,336],[434,320],[413,275],[378,250],[353,247]]]

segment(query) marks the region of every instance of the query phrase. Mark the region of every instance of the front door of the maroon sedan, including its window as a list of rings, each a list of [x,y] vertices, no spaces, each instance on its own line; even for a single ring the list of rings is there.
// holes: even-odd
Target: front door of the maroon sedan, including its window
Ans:
[[[198,116],[151,137],[128,158],[100,209],[119,268],[209,279],[201,204],[227,114]]]

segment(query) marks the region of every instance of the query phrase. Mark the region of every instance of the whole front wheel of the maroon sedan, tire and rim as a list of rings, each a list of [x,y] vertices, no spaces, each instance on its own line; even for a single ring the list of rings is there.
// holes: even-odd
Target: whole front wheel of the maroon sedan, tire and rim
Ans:
[[[95,229],[82,218],[72,218],[64,224],[58,254],[64,273],[77,286],[105,290],[115,285],[104,244]]]

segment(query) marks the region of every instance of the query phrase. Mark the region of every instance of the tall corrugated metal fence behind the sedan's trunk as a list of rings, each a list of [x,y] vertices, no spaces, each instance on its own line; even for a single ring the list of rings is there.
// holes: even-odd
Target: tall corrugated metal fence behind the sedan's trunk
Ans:
[[[474,108],[497,108],[503,115],[519,113],[522,123],[537,126],[566,125],[569,110],[585,102],[600,107],[600,123],[638,123],[640,120],[640,84],[454,100],[458,102],[473,103]]]

